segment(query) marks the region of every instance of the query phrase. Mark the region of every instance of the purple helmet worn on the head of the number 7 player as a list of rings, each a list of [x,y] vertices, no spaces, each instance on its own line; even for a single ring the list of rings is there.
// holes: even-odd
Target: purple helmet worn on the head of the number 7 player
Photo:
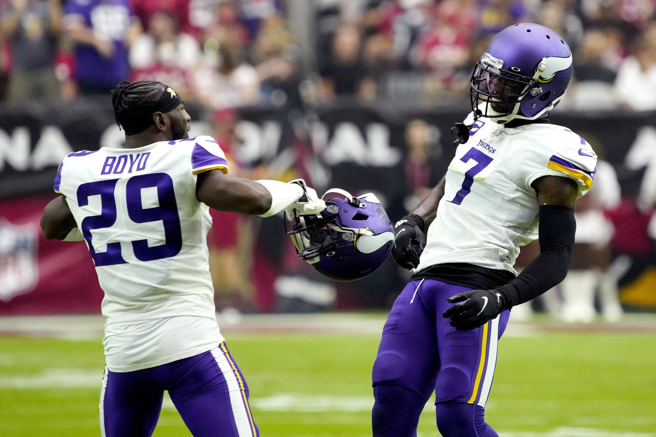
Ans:
[[[558,33],[533,23],[509,26],[472,73],[474,117],[497,123],[543,117],[560,102],[572,72],[571,51]]]

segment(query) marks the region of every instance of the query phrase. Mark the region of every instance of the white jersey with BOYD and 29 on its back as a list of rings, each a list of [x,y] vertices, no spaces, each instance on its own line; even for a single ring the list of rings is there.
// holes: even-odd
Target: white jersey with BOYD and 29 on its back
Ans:
[[[205,239],[212,219],[195,194],[196,175],[212,169],[228,173],[226,157],[210,136],[74,152],[62,161],[54,190],[66,196],[105,293],[110,370],[163,364],[222,341]],[[180,321],[186,316],[205,319],[209,334],[194,339],[194,350],[169,350],[152,321],[177,330],[180,341],[167,337],[177,346],[184,343],[188,322]],[[195,326],[194,335],[199,331]],[[131,352],[129,362],[112,359],[125,358],[127,348],[141,352]]]

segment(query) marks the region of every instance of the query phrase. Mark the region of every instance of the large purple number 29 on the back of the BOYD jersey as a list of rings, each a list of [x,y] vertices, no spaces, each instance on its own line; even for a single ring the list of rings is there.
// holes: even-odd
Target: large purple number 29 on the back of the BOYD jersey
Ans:
[[[117,209],[114,190],[119,179],[98,180],[87,182],[77,188],[77,204],[80,207],[89,204],[90,196],[100,196],[100,215],[85,217],[81,223],[82,235],[89,245],[89,253],[96,267],[125,264],[127,261],[121,255],[121,243],[107,243],[107,251],[96,252],[91,243],[91,230],[111,228],[116,222]],[[157,188],[159,206],[145,208],[142,206],[142,188]],[[125,203],[130,220],[134,223],[161,221],[164,228],[165,243],[149,247],[148,240],[131,241],[134,257],[140,261],[174,257],[182,249],[182,230],[178,205],[173,191],[173,180],[166,173],[136,175],[125,184]]]

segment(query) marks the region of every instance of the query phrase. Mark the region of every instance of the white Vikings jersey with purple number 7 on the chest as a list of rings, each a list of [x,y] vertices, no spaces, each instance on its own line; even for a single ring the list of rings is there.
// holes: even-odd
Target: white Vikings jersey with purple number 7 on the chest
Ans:
[[[465,124],[470,125],[470,114]],[[511,129],[479,118],[446,174],[444,196],[430,224],[415,272],[449,262],[495,270],[513,268],[520,246],[537,239],[539,177],[573,179],[583,196],[597,157],[581,136],[549,123]]]

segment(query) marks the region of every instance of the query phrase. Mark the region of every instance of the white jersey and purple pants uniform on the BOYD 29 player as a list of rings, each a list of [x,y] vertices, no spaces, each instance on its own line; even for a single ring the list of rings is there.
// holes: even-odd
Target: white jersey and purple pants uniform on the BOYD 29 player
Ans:
[[[103,435],[150,435],[163,390],[194,435],[258,435],[216,324],[212,220],[195,196],[197,174],[214,169],[228,173],[209,136],[75,152],[58,169],[54,190],[66,196],[105,293]]]

